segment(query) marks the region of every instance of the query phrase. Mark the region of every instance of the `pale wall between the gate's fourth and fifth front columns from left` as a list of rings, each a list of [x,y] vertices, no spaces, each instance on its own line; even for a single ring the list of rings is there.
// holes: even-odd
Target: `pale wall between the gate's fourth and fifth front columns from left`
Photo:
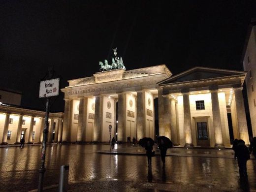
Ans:
[[[125,140],[130,136],[131,140],[136,136],[136,96],[132,94],[126,94],[126,128],[125,128]],[[134,117],[128,117],[128,110],[134,112]]]

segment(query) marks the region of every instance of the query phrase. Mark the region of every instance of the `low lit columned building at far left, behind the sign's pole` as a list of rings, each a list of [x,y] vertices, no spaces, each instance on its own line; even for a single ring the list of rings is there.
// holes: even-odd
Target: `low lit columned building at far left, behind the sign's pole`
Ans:
[[[0,143],[41,143],[45,112],[0,104]],[[49,113],[48,142],[61,142],[63,113]]]

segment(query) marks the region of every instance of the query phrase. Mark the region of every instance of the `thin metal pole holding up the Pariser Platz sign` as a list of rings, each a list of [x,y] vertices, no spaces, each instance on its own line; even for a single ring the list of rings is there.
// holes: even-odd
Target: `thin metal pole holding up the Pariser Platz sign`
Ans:
[[[45,122],[44,122],[44,129],[43,129],[41,166],[39,169],[38,192],[43,191],[43,176],[44,176],[44,172],[45,172],[44,162],[45,162],[45,151],[46,151],[46,142],[47,142],[47,134],[48,134],[49,102],[50,102],[50,98],[47,97],[46,98],[46,108],[45,108]]]

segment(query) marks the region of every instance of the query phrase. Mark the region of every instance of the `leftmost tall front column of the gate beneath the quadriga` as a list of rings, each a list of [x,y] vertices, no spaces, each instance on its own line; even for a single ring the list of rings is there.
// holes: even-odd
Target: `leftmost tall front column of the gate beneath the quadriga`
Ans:
[[[62,142],[69,142],[70,138],[70,121],[73,101],[70,99],[65,100],[64,119],[63,119],[63,131],[62,131]]]

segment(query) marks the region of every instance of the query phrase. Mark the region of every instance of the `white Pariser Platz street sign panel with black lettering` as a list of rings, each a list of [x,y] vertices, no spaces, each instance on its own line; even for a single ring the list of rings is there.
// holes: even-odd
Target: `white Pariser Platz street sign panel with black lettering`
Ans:
[[[60,78],[41,81],[40,89],[39,89],[39,98],[49,97],[49,96],[58,96],[59,84],[60,84]]]

